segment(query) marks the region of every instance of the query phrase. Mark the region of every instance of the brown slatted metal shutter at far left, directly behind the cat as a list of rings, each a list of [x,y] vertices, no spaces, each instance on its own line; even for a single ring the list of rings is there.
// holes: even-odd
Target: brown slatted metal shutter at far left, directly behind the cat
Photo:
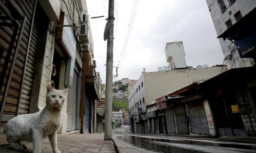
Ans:
[[[34,14],[33,12],[35,1],[31,0],[21,2],[20,0],[16,0],[16,3],[18,7],[22,10],[22,12],[25,14],[25,16],[27,16],[27,20],[20,42],[17,58],[14,61],[14,71],[12,72],[11,83],[8,90],[7,99],[4,105],[4,112],[3,117],[1,118],[1,125],[5,125],[5,123],[9,119],[15,117],[18,114],[29,113],[30,98],[35,70],[35,59],[37,56],[39,40],[39,33],[37,28],[38,25],[36,21],[33,22],[32,20]],[[9,64],[7,67],[7,73],[5,74],[6,76],[10,71],[10,66],[14,55],[13,51],[10,59],[6,59],[7,50],[11,41],[13,31],[14,28],[12,27],[0,26],[0,46],[3,47],[4,50],[0,60],[0,72],[2,71],[5,60],[8,60]],[[30,31],[31,39],[29,44]],[[17,43],[17,40],[15,40],[15,42]],[[27,52],[28,46],[29,51]],[[4,79],[3,88],[1,89],[0,93],[0,101],[3,98],[3,90],[6,86],[6,81],[7,78]]]

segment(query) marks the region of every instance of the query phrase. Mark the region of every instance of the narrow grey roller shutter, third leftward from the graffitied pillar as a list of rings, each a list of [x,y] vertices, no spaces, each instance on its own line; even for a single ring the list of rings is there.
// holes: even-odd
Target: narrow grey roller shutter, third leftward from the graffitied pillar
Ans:
[[[169,108],[165,110],[165,119],[166,119],[167,133],[176,134],[173,108]]]

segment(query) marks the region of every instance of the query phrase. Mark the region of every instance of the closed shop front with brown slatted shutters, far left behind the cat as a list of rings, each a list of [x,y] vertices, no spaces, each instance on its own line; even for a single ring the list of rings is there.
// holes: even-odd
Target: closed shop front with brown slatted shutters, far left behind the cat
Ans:
[[[37,4],[36,7],[33,0],[23,2],[16,0],[13,3],[4,1],[3,3],[8,7],[6,9],[10,9],[11,16],[14,15],[14,19],[17,19],[20,25],[19,30],[12,26],[8,27],[8,24],[0,26],[1,125],[5,125],[8,120],[18,114],[29,113],[39,38],[41,32],[47,30],[49,23],[46,15],[42,13],[44,11],[41,6]],[[16,5],[25,17],[16,12],[12,5]],[[9,16],[4,13],[3,17],[4,15]],[[8,17],[6,19],[3,18],[0,22],[12,23]],[[42,45],[45,47],[45,44]]]

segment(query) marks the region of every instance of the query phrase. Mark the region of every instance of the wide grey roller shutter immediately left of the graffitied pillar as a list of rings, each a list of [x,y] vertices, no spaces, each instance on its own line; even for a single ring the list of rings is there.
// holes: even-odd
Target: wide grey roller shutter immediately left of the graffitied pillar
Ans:
[[[210,135],[203,102],[191,102],[187,106],[192,133]]]

